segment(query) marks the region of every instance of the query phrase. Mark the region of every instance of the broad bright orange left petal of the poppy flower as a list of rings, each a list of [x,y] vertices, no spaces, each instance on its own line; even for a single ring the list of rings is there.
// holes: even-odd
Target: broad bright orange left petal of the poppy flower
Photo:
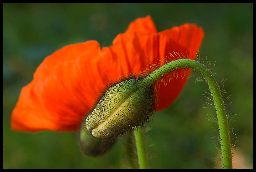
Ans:
[[[12,112],[18,131],[75,131],[103,83],[96,76],[96,41],[68,45],[48,56],[22,88]],[[92,74],[93,73],[93,74]]]

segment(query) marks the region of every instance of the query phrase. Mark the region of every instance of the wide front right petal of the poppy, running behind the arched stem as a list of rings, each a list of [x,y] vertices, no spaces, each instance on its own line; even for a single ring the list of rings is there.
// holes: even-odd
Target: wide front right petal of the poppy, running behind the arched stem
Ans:
[[[192,24],[174,27],[160,33],[119,34],[112,46],[101,50],[102,55],[99,60],[101,76],[103,78],[107,78],[106,75],[114,76],[113,79],[115,79],[115,77],[128,73],[139,74],[151,64],[172,61],[169,54],[172,52],[194,59],[203,37],[202,28]],[[160,83],[158,91],[160,101],[159,106],[156,107],[157,111],[169,107],[180,95],[189,76],[189,73],[181,73],[184,71],[178,70],[177,76],[182,76],[182,78],[169,80],[165,76],[165,83]]]

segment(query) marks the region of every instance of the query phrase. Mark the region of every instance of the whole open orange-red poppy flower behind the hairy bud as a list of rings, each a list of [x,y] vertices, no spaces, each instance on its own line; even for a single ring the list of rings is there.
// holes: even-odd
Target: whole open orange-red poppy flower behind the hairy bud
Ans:
[[[140,73],[150,64],[165,62],[170,52],[194,59],[204,37],[202,28],[184,24],[157,32],[150,16],[133,21],[110,47],[96,41],[63,47],[37,68],[30,84],[22,88],[12,112],[17,131],[76,131],[90,110],[99,90],[128,73]],[[160,84],[159,106],[169,107],[179,96],[185,77]]]

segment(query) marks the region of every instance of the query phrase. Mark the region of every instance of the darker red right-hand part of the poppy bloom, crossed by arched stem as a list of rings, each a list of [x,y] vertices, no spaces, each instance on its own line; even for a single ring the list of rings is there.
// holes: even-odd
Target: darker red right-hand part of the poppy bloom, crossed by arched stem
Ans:
[[[170,57],[169,53],[175,52],[194,59],[203,40],[204,31],[194,24],[184,24],[180,27],[173,27],[170,30],[162,31],[159,35],[162,41],[160,51],[166,57]],[[165,83],[160,83],[158,91],[159,106],[156,108],[157,111],[166,109],[179,97],[189,74],[189,72],[184,74],[184,71],[178,70],[177,76],[182,76],[182,78],[170,80],[165,76]]]

